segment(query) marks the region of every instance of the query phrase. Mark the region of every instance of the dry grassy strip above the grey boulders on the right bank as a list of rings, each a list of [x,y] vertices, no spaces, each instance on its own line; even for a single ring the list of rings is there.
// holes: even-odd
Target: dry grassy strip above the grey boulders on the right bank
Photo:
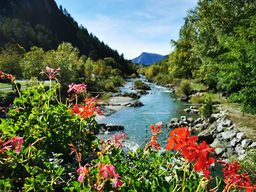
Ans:
[[[219,93],[213,95],[214,100],[219,101],[224,110],[228,110],[228,118],[237,124],[237,128],[241,132],[246,132],[248,138],[256,141],[256,116],[252,114],[247,114],[241,111],[241,105],[239,103],[229,103],[225,97],[220,97]]]

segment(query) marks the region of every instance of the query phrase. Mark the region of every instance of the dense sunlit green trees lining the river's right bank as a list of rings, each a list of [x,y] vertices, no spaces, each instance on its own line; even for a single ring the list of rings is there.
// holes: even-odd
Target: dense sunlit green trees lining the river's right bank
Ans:
[[[233,92],[256,114],[256,1],[199,0],[188,10],[168,60],[142,68],[149,80],[199,79],[209,89]]]

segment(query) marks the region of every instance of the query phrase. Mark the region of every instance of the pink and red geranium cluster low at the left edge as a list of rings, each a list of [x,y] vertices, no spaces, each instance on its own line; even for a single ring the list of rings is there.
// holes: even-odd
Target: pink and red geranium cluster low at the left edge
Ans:
[[[14,135],[10,140],[6,141],[5,143],[2,141],[2,138],[0,138],[0,153],[5,153],[7,149],[16,149],[16,153],[20,153],[21,145],[23,142],[24,140],[16,135]],[[11,143],[11,145],[6,146],[9,143]]]

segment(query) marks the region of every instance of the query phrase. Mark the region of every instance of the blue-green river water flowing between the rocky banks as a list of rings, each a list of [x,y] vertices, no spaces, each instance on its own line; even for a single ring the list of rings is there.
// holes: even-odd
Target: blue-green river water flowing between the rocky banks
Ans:
[[[128,80],[124,87],[120,88],[122,92],[136,92],[131,90],[132,83],[137,79]],[[188,102],[177,100],[178,96],[175,93],[168,91],[168,88],[156,85],[154,83],[148,83],[145,79],[141,79],[146,84],[150,85],[150,94],[142,95],[139,99],[144,104],[141,107],[125,107],[116,113],[107,116],[105,119],[99,121],[99,123],[106,124],[119,124],[124,126],[124,131],[127,134],[129,140],[125,140],[123,144],[124,151],[134,151],[136,148],[145,140],[146,136],[151,135],[151,124],[156,124],[159,121],[163,121],[168,124],[170,119],[178,118],[180,116],[193,117],[194,119],[199,118],[198,114],[189,114],[183,111],[185,108],[189,108]],[[152,94],[151,94],[152,93]],[[175,99],[175,100],[174,100]],[[125,101],[125,102],[133,102]],[[125,102],[121,102],[125,103]],[[168,113],[168,114],[143,114],[143,113]],[[163,132],[157,136],[157,141],[162,146],[161,151],[165,150],[167,138],[170,136],[170,130],[173,128],[163,127]],[[99,139],[108,139],[112,135],[118,132],[112,132],[111,134],[100,134]],[[198,133],[198,132],[197,132]],[[197,134],[196,133],[196,134]],[[143,144],[142,147],[145,147]],[[212,176],[221,175],[222,168],[215,163],[214,168],[217,170],[217,174],[212,172]]]

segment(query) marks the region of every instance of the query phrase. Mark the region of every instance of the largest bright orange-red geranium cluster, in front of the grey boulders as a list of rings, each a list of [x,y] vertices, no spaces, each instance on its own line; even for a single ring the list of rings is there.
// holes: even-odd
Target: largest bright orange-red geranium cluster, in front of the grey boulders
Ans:
[[[177,134],[175,134],[175,132]],[[214,163],[214,158],[209,155],[214,148],[210,148],[209,145],[203,141],[200,146],[196,144],[197,136],[190,136],[188,128],[176,128],[175,131],[170,132],[171,137],[168,138],[168,144],[166,150],[172,150],[173,146],[175,151],[182,151],[182,155],[186,158],[186,161],[196,162],[194,168],[196,171],[209,171],[209,166]],[[205,172],[205,175],[209,175],[209,172]]]

